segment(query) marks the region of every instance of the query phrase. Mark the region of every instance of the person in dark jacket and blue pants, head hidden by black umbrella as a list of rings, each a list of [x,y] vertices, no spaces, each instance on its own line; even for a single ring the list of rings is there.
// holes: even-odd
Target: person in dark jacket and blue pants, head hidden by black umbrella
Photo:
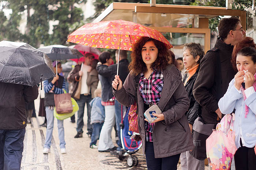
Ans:
[[[37,99],[37,85],[0,82],[0,169],[19,170],[27,118],[25,102]]]

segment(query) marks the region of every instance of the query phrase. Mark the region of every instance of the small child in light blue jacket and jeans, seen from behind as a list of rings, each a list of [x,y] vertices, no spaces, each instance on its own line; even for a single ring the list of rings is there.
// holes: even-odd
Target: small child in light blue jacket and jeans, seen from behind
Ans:
[[[91,105],[91,125],[93,125],[93,133],[91,135],[90,148],[98,148],[96,145],[101,133],[101,128],[105,120],[105,108],[101,105],[101,89],[97,88],[94,91],[93,100],[90,102]]]

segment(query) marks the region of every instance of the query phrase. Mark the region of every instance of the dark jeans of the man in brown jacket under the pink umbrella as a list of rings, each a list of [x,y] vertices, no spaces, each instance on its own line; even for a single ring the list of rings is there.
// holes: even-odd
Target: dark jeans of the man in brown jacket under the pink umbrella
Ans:
[[[93,133],[93,126],[91,125],[91,105],[89,104],[92,100],[91,95],[85,96],[83,94],[80,95],[80,99],[76,102],[78,103],[79,110],[78,110],[78,118],[77,118],[77,126],[76,131],[83,133],[83,114],[84,114],[84,106],[86,103],[87,106],[87,134]]]

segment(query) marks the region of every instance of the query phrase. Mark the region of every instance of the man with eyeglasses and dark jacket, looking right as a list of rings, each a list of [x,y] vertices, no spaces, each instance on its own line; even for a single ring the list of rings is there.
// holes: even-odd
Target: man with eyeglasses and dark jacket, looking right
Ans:
[[[213,124],[214,129],[222,118],[218,101],[223,97],[229,82],[236,74],[230,62],[231,54],[234,45],[245,36],[240,20],[235,16],[222,19],[219,22],[218,32],[219,37],[214,48],[209,50],[200,62],[200,69],[193,87],[193,95],[202,106],[204,123]],[[205,143],[205,141],[201,142]],[[192,154],[196,158],[197,150],[194,149]],[[201,152],[199,155],[206,158],[206,152]]]

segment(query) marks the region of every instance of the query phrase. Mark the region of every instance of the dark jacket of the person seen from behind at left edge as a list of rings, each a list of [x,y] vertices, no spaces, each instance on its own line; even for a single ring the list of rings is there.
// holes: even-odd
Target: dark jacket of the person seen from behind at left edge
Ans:
[[[0,82],[0,129],[26,127],[26,104],[37,99],[37,86]]]

